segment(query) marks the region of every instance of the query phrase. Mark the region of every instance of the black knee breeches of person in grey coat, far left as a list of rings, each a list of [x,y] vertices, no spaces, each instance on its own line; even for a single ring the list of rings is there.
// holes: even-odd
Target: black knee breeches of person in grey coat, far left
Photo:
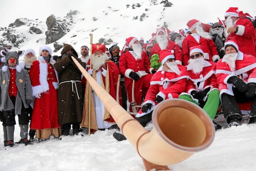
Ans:
[[[10,97],[10,99],[12,100],[12,103],[15,106],[16,97],[12,95]],[[6,126],[14,126],[14,125],[16,125],[15,109],[4,110],[3,114],[4,114],[5,125]],[[19,121],[19,125],[26,125],[26,124],[29,123],[29,113],[27,112],[27,109],[24,107],[23,104],[22,104],[22,107],[21,107],[21,112],[18,115],[18,121]],[[3,125],[4,125],[4,123],[3,123]]]

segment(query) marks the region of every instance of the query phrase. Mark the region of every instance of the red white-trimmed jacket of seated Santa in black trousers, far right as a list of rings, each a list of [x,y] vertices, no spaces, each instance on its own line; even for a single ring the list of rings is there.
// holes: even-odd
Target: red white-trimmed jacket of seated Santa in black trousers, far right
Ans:
[[[235,71],[231,71],[225,59],[221,59],[216,65],[217,83],[219,85],[220,97],[223,93],[233,95],[233,84],[227,83],[231,76],[237,76],[246,83],[256,82],[256,58],[238,51]]]

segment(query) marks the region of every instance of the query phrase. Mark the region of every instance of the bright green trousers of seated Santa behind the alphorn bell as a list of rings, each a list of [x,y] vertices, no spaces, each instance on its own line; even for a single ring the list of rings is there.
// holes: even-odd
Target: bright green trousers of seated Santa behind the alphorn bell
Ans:
[[[192,102],[198,106],[198,104],[192,100],[190,95],[183,94],[179,97],[179,99],[188,100],[189,102]],[[219,108],[219,102],[219,90],[212,90],[208,93],[206,104],[204,105],[203,110],[210,116],[212,120],[214,119]]]

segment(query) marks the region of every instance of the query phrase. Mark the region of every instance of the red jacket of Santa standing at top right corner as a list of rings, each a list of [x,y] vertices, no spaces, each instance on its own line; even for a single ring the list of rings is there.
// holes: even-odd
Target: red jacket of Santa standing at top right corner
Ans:
[[[237,33],[230,33],[227,37],[236,39],[238,42],[239,50],[245,54],[252,55],[256,57],[255,50],[255,28],[253,24],[248,19],[239,18],[234,22],[233,27],[237,27]]]

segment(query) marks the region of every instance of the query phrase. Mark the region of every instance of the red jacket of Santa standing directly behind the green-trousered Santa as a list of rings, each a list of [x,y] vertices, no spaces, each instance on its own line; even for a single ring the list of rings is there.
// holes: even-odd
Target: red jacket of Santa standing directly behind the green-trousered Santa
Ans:
[[[197,33],[193,34],[194,36],[199,36]],[[219,59],[219,54],[217,51],[217,47],[215,43],[212,41],[212,39],[206,39],[201,36],[199,36],[199,42],[196,41],[196,39],[193,37],[192,34],[189,34],[187,37],[185,37],[184,41],[182,42],[182,51],[184,54],[183,61],[184,66],[188,65],[188,60],[190,59],[189,56],[189,49],[193,46],[201,46],[203,50],[204,60],[207,61],[215,61]]]

